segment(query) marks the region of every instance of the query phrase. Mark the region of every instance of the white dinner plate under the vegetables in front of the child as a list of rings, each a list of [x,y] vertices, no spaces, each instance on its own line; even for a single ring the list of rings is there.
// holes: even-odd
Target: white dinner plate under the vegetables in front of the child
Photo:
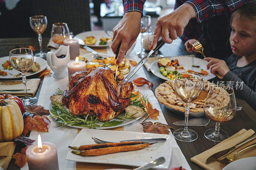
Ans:
[[[178,69],[177,71],[180,72],[186,72],[188,70],[193,70],[196,72],[201,72],[201,69],[206,70],[206,64],[207,61],[203,60],[203,59],[199,59],[196,57],[186,57],[186,56],[180,56],[180,57],[164,57],[164,58],[169,58],[170,60],[175,60],[177,59],[179,61],[180,66],[184,67],[184,69]],[[153,74],[155,74],[157,77],[162,78],[164,80],[170,80],[167,77],[163,76],[160,71],[159,71],[159,67],[157,66],[157,62],[158,60],[154,61],[151,66],[150,66],[150,70]],[[199,68],[196,67],[192,67],[192,65],[196,65],[199,66]],[[215,75],[213,75],[210,70],[207,70],[207,72],[209,73],[206,76],[203,76],[204,80],[209,80],[215,77]]]

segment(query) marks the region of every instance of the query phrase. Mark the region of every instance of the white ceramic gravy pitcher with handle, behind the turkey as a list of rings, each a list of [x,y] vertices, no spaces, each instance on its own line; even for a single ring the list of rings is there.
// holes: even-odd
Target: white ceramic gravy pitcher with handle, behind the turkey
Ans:
[[[59,59],[57,56],[66,55],[65,58]],[[54,78],[64,78],[68,75],[68,62],[70,61],[69,46],[60,46],[55,52],[48,52],[46,56],[48,65],[54,72]]]

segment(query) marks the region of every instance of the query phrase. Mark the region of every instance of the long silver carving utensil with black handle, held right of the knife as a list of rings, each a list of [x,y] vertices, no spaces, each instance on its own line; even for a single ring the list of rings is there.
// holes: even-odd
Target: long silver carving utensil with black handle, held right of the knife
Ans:
[[[144,63],[148,60],[149,56],[156,52],[157,50],[159,50],[159,48],[161,48],[164,45],[164,41],[162,40],[162,38],[159,39],[159,41],[157,42],[156,48],[154,50],[151,50],[148,55],[146,55],[143,59],[140,60],[140,62],[137,64],[136,67],[133,68],[133,70],[126,76],[126,78],[120,83],[122,84],[121,87],[124,86],[124,84],[140,69],[140,67],[142,67],[144,65]],[[119,85],[120,85],[119,84]]]

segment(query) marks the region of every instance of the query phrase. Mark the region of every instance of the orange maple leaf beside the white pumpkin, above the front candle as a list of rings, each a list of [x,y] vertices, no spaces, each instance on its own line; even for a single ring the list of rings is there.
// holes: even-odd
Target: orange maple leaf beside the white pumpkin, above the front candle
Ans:
[[[26,136],[26,134],[31,131],[33,125],[36,126],[37,130],[39,131],[43,131],[43,132],[48,132],[48,123],[46,123],[44,121],[44,119],[48,120],[50,122],[50,120],[48,119],[48,117],[46,116],[27,116],[26,119],[24,119],[24,128],[23,128],[23,134]]]

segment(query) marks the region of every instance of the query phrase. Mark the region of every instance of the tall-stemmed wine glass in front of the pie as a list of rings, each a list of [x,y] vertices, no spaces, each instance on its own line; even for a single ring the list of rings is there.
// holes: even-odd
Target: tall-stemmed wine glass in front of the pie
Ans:
[[[187,78],[184,78],[187,77]],[[203,90],[203,77],[200,74],[182,72],[175,76],[174,90],[176,95],[186,103],[185,105],[185,127],[173,132],[175,139],[183,142],[192,142],[197,139],[195,131],[188,129],[189,103],[194,101]]]

